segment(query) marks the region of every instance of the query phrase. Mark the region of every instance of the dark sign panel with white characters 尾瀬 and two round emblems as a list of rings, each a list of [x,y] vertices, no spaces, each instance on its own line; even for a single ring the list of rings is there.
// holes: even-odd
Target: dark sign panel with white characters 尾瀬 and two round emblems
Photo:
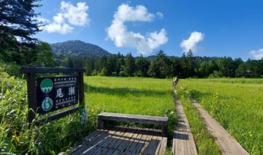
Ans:
[[[37,113],[45,114],[78,103],[78,77],[36,79]]]

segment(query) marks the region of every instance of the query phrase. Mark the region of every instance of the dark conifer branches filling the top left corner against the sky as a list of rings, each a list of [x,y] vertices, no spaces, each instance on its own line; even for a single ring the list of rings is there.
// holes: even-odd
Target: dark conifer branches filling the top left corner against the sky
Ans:
[[[36,42],[32,35],[41,31],[38,27],[40,22],[35,18],[36,2],[39,0],[0,0],[0,31],[19,37],[22,43],[31,44]]]

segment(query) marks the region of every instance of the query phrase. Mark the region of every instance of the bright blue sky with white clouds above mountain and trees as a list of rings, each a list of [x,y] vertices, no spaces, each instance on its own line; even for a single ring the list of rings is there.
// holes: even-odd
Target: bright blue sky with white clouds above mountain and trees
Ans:
[[[261,0],[42,0],[36,38],[83,40],[133,56],[263,57]]]

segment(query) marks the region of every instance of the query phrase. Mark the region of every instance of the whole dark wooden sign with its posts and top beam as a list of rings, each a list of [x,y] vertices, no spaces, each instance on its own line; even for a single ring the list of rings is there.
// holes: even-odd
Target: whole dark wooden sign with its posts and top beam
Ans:
[[[27,99],[29,102],[29,123],[34,121],[36,113],[45,114],[70,105],[73,108],[57,112],[48,118],[38,119],[46,122],[65,117],[73,112],[85,110],[84,101],[84,68],[50,68],[50,67],[21,67],[20,73],[27,75]],[[66,73],[73,76],[36,77],[36,74]]]

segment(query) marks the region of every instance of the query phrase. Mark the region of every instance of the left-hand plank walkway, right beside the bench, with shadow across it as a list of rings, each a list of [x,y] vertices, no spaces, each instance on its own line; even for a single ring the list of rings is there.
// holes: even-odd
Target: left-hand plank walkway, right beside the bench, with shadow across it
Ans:
[[[176,112],[178,114],[178,123],[173,132],[173,154],[180,155],[197,155],[197,147],[194,143],[194,138],[191,133],[190,125],[183,111],[182,103],[177,99],[176,90],[173,91],[175,96]]]

